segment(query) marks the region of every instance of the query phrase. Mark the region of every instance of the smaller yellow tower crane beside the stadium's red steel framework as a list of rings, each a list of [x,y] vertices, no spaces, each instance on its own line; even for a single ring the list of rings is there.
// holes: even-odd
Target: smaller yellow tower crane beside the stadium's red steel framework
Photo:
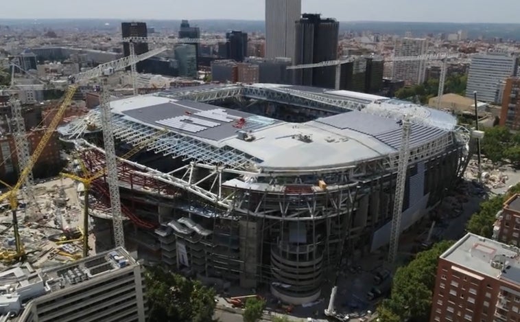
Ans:
[[[155,141],[165,133],[167,133],[168,130],[162,129],[158,130],[155,135],[152,137],[145,139],[144,141],[141,141],[137,143],[132,150],[126,152],[121,159],[130,159],[134,154],[139,152],[142,148],[144,148],[148,143],[151,143],[152,141]],[[83,205],[83,257],[88,256],[88,197],[90,196],[90,190],[92,187],[93,181],[96,179],[101,178],[106,174],[106,168],[103,168],[102,170],[99,170],[95,172],[94,174],[88,175],[88,170],[85,167],[85,164],[81,159],[78,158],[78,161],[80,163],[80,167],[83,172],[83,176],[77,176],[75,174],[69,174],[69,173],[60,173],[62,176],[67,177],[69,179],[72,179],[74,181],[78,181],[80,183],[83,183],[84,187],[84,205]]]

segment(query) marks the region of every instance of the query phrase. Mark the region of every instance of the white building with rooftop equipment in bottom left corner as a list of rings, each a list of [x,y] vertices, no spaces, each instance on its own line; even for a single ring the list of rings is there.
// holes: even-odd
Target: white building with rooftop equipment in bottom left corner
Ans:
[[[0,321],[145,321],[141,266],[122,248],[0,279]]]

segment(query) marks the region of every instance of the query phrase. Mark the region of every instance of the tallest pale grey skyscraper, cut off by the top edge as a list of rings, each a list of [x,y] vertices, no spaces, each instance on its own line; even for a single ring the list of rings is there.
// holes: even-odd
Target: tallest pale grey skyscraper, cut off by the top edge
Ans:
[[[265,58],[294,61],[296,21],[301,11],[301,0],[265,0]]]

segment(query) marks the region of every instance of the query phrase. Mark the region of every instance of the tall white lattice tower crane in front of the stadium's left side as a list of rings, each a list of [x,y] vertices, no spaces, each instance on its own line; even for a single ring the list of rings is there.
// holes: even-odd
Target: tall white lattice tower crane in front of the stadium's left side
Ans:
[[[128,56],[118,60],[113,60],[112,62],[107,62],[106,64],[99,65],[94,69],[90,69],[84,73],[79,73],[78,75],[71,77],[71,82],[78,84],[90,80],[91,78],[109,76],[115,71],[125,69],[130,65],[134,65],[136,62],[140,62],[141,60],[145,60],[157,54],[161,54],[161,52],[165,51],[166,49],[166,47],[161,47],[148,51],[145,54],[139,56]],[[101,106],[102,111],[102,129],[106,157],[108,190],[110,192],[110,211],[112,211],[112,220],[114,226],[114,240],[115,246],[119,247],[125,245],[125,239],[123,231],[123,219],[121,215],[121,199],[119,196],[119,179],[116,162],[117,159],[115,154],[115,143],[110,113],[110,93],[109,91],[104,90],[103,87],[101,87],[101,94],[99,95],[99,106]]]

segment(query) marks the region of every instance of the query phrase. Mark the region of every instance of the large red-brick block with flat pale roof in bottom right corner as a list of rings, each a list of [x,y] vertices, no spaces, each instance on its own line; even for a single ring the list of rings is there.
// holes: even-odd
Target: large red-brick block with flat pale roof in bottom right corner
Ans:
[[[430,321],[519,321],[520,249],[468,233],[440,255]]]

